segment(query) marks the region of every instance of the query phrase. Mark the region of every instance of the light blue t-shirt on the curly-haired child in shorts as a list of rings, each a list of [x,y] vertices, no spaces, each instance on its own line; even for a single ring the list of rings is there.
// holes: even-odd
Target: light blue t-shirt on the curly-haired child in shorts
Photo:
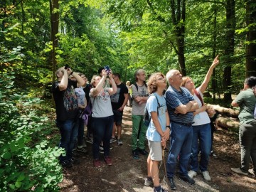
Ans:
[[[156,97],[159,100],[160,107],[157,103]],[[146,101],[146,109],[149,112],[149,118],[151,118],[151,112],[157,112],[157,108],[158,119],[161,124],[161,129],[164,132],[166,130],[166,100],[164,98],[164,95],[160,96],[156,92],[154,92],[154,95],[150,95],[149,99]],[[161,142],[161,136],[159,132],[156,131],[156,127],[154,126],[152,119],[146,131],[146,139],[153,142]]]

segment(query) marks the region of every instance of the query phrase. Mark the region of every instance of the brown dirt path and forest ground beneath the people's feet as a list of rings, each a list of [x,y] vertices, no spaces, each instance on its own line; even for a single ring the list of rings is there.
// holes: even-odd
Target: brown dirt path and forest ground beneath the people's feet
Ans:
[[[71,169],[64,169],[63,182],[60,183],[62,192],[66,191],[113,191],[113,192],[146,192],[153,188],[144,186],[146,178],[146,156],[139,160],[132,158],[131,134],[132,119],[131,107],[125,107],[123,117],[122,141],[123,145],[113,143],[110,151],[113,165],[107,166],[101,156],[102,167],[95,169],[92,164],[91,144],[87,144],[87,154],[78,156],[80,164]],[[214,149],[217,157],[210,156],[208,171],[212,181],[204,181],[198,174],[194,179],[196,184],[191,186],[174,177],[176,191],[254,191],[256,192],[256,179],[252,176],[240,176],[233,173],[230,168],[240,165],[240,146],[238,134],[218,129],[214,137]],[[148,150],[148,148],[147,148]],[[166,152],[165,158],[168,155]],[[164,165],[159,169],[161,185],[166,186],[164,178]],[[171,191],[171,190],[169,190]]]

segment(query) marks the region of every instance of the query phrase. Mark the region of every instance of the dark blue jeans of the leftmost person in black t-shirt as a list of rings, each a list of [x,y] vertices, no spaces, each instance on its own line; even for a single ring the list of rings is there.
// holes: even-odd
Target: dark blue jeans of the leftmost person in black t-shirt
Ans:
[[[60,129],[59,147],[65,149],[66,155],[60,156],[60,162],[72,158],[72,150],[78,137],[78,119],[68,119],[66,121],[56,120],[56,125]]]

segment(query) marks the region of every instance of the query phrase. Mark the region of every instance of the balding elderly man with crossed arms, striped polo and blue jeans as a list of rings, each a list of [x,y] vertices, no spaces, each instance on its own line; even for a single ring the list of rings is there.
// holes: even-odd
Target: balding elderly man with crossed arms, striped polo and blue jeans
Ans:
[[[198,104],[191,93],[181,87],[182,75],[178,70],[169,70],[166,79],[170,85],[166,90],[165,97],[171,120],[171,148],[166,162],[166,170],[171,189],[175,190],[174,173],[178,156],[178,177],[192,185],[195,183],[193,178],[188,176],[187,166],[193,137],[193,111],[198,109]]]

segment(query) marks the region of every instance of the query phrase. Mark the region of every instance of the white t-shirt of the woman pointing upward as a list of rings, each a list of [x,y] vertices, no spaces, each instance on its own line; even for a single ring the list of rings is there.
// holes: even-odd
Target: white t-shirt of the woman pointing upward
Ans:
[[[197,88],[196,90],[198,91],[198,93],[201,95],[201,97],[203,99],[203,94],[201,93],[199,88]],[[199,98],[196,96],[196,94],[194,94],[193,97],[195,98],[196,102],[198,102],[199,108],[202,107],[202,103],[199,100]],[[193,122],[194,122],[192,124],[193,126],[208,124],[208,123],[210,123],[210,118],[209,118],[207,112],[204,111],[204,112],[200,112],[200,113],[196,114],[196,116],[193,119]]]

